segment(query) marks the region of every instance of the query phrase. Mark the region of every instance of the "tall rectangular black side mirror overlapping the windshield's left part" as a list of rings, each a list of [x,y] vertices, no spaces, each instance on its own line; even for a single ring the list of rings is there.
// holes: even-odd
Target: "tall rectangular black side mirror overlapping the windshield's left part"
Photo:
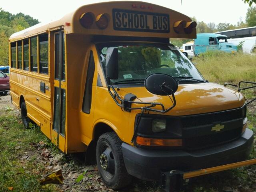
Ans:
[[[109,47],[106,55],[106,78],[118,79],[118,48]]]

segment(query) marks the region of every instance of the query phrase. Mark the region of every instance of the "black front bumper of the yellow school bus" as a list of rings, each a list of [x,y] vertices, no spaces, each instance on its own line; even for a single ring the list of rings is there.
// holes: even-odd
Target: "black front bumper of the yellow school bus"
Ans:
[[[253,132],[246,129],[235,141],[196,151],[150,150],[122,144],[126,170],[143,180],[158,180],[162,171],[190,171],[245,160],[253,148]]]

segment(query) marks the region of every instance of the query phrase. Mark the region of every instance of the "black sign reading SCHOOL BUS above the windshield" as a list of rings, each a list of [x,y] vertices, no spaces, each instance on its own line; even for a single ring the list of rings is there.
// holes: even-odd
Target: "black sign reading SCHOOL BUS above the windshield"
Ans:
[[[170,32],[168,14],[133,10],[113,9],[114,30],[138,32]]]

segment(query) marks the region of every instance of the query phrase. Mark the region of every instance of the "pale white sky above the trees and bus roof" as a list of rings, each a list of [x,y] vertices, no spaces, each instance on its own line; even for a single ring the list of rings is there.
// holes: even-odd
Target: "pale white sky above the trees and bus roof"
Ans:
[[[0,8],[12,14],[22,12],[40,22],[50,22],[61,18],[84,4],[104,2],[108,0],[1,0]],[[111,0],[114,1],[114,0]],[[195,16],[198,21],[216,24],[236,24],[244,21],[248,4],[242,0],[144,0],[158,4],[187,16]]]

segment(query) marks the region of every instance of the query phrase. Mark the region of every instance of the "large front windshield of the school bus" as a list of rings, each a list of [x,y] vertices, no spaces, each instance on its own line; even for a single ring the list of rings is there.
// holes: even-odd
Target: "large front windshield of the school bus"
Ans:
[[[144,82],[154,73],[204,80],[192,62],[171,44],[103,43],[97,47],[104,72],[108,47],[118,48],[118,79],[110,80],[111,84]]]

